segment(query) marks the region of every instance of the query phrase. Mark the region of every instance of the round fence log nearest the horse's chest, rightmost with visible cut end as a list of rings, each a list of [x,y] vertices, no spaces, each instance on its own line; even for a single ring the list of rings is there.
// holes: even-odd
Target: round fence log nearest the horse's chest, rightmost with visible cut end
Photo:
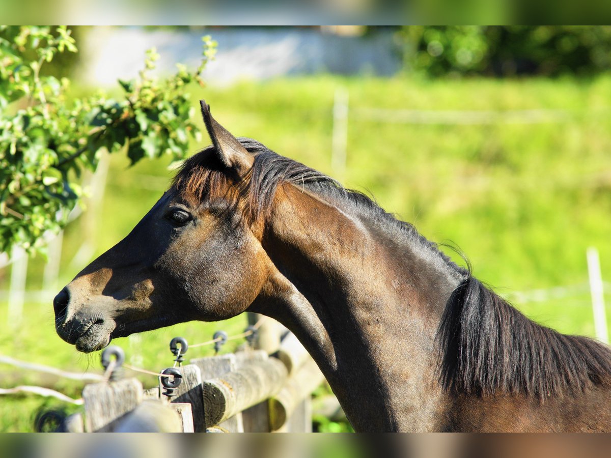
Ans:
[[[324,381],[324,376],[312,358],[288,378],[282,390],[269,399],[269,424],[272,431],[280,429],[302,401]]]

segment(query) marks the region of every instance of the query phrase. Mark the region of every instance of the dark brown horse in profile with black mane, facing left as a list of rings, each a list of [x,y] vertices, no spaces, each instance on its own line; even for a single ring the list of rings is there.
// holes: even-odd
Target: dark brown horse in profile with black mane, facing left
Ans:
[[[200,101],[212,145],[54,298],[82,352],[243,311],[284,324],[355,431],[611,431],[611,351],[526,318],[414,226]]]

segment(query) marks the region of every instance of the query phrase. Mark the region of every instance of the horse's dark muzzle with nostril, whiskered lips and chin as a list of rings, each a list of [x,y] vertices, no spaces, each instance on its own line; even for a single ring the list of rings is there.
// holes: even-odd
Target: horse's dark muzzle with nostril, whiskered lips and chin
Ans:
[[[57,335],[84,353],[103,349],[111,341],[114,319],[97,307],[75,306],[70,299],[70,290],[64,288],[53,300]]]

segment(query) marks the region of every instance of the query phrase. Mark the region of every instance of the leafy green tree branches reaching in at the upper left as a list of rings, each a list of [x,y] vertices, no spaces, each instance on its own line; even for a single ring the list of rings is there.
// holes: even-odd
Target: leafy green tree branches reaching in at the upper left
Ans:
[[[70,30],[0,27],[0,252],[14,244],[44,249],[43,234],[66,224],[83,194],[81,172],[96,169],[99,151],[124,151],[132,164],[185,156],[199,129],[184,88],[203,85],[200,73],[216,51],[210,37],[202,41],[194,70],[178,64],[169,78],[153,78],[159,55],[150,49],[139,79],[119,81],[120,98],[98,92],[68,100],[70,81],[41,68],[58,53],[77,52]]]

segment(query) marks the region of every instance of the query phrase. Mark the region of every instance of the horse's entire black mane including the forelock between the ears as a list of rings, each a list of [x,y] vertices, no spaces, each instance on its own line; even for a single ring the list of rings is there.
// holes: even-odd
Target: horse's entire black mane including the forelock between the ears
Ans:
[[[397,237],[417,242],[463,279],[450,296],[437,330],[439,373],[447,390],[478,396],[519,392],[543,399],[609,382],[608,347],[536,324],[472,277],[470,271],[454,264],[411,224],[396,219],[367,195],[345,189],[329,176],[280,156],[256,140],[239,140],[255,161],[248,179],[243,180],[244,187],[233,197],[246,199],[252,220],[266,217],[277,188],[291,183],[367,216]],[[186,187],[202,198],[226,183],[223,166],[215,162],[212,148],[185,161],[174,178],[175,188]]]

